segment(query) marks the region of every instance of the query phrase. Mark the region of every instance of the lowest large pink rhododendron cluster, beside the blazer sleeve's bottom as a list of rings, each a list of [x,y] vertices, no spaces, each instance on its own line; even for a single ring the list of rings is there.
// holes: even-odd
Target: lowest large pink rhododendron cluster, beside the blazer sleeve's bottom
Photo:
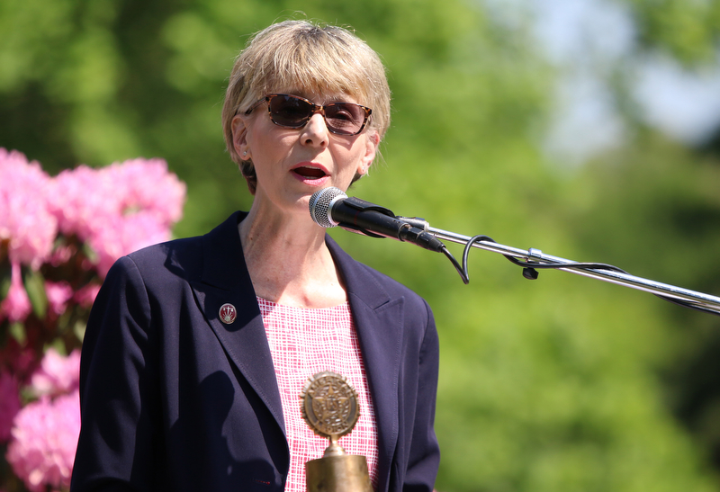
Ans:
[[[24,407],[11,434],[5,458],[25,487],[31,492],[68,488],[80,434],[79,391]]]

